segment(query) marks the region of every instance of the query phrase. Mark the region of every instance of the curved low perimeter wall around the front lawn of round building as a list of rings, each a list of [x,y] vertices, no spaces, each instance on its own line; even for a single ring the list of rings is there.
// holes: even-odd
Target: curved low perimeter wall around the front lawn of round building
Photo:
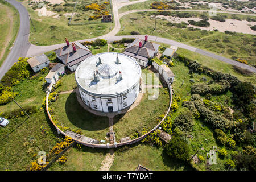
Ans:
[[[166,119],[168,113],[170,112],[170,109],[171,109],[171,104],[172,104],[172,87],[171,85],[168,85],[168,89],[169,89],[169,96],[170,96],[170,102],[169,102],[169,108],[168,108],[168,111],[166,113],[166,115],[164,115],[164,118],[162,119],[162,121],[160,121],[158,123],[158,125],[156,125],[152,130],[148,131],[148,133],[142,135],[141,137],[138,137],[138,138],[135,138],[133,140],[130,140],[130,141],[127,141],[127,142],[123,142],[123,143],[115,143],[115,144],[93,144],[93,143],[85,143],[85,142],[81,142],[81,140],[77,140],[75,138],[72,138],[73,140],[75,140],[75,142],[77,143],[80,143],[80,144],[83,144],[84,146],[88,146],[88,147],[96,147],[96,148],[117,148],[117,147],[121,147],[121,146],[124,146],[124,145],[128,145],[128,144],[134,144],[136,142],[139,142],[141,140],[143,140],[144,138],[147,137],[147,135],[149,135],[152,131],[155,131],[156,129],[158,129],[158,127],[161,125],[161,123],[164,121],[164,119]],[[48,111],[48,97],[49,97],[49,94],[50,92],[49,91],[46,91],[46,111],[47,111],[47,114],[48,114],[48,117],[49,119],[51,120],[52,124],[55,126],[55,128],[57,129],[57,132],[58,134],[63,134],[64,136],[68,136],[64,131],[61,131],[59,129],[59,127],[57,127],[55,125],[55,123],[52,121],[52,117],[51,117],[51,114],[49,113]]]

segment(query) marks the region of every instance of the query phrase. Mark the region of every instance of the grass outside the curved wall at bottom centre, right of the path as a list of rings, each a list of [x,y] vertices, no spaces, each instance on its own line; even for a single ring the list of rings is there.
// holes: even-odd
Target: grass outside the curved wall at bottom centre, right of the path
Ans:
[[[156,148],[149,144],[137,143],[115,151],[115,159],[110,171],[134,171],[139,164],[151,171],[192,170],[188,164],[171,159],[163,151],[163,147]]]

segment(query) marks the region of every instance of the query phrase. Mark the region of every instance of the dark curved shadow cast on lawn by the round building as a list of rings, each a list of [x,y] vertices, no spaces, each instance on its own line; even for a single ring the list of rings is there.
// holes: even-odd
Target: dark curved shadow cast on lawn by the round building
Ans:
[[[100,117],[86,111],[77,101],[74,92],[69,94],[65,101],[65,113],[69,121],[82,130],[97,131],[109,127],[108,117]]]

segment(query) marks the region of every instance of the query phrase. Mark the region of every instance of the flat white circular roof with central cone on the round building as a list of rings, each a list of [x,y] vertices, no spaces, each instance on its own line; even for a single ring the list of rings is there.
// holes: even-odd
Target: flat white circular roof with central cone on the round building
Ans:
[[[90,56],[82,61],[75,72],[79,88],[94,96],[115,96],[125,93],[133,88],[140,78],[141,67],[137,61],[115,52]]]

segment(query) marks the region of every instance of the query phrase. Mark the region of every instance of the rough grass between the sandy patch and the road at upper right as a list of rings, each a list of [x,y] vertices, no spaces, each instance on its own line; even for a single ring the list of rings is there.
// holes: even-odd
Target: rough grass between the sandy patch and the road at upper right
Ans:
[[[119,31],[117,35],[130,35],[130,32],[137,31],[139,34],[160,36],[206,49],[230,59],[236,56],[247,60],[251,65],[256,63],[254,35],[240,33],[225,34],[223,32],[205,30],[189,31],[188,28],[168,27],[168,21],[163,19],[156,21],[156,30],[154,30],[155,19],[150,18],[150,15],[152,15],[152,12],[131,13],[123,16],[120,21],[121,27],[125,26],[125,28]],[[143,24],[141,19],[143,19]],[[235,52],[230,52],[230,50]]]

